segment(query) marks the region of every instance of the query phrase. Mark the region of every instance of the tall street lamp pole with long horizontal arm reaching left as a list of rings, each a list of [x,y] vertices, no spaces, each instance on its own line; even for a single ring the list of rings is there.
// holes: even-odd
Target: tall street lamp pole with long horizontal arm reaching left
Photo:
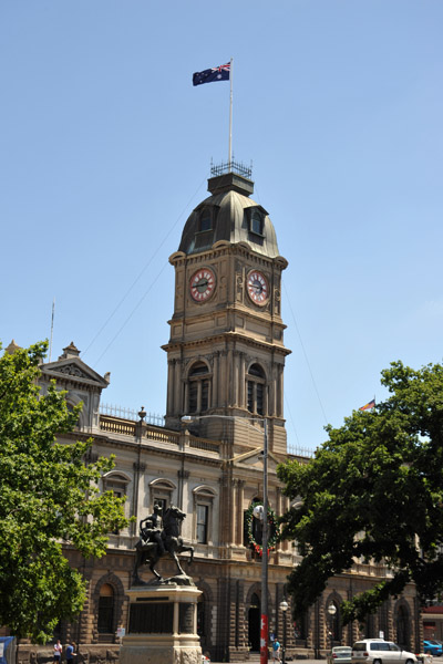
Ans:
[[[213,417],[220,417],[222,419],[238,419],[249,426],[255,432],[255,426],[249,424],[248,419],[264,423],[264,504],[262,504],[262,536],[261,536],[261,602],[260,602],[260,664],[267,664],[268,662],[268,639],[269,639],[269,619],[268,619],[268,421],[266,417],[238,417],[236,415],[184,415],[182,422],[189,424],[196,419],[208,419]]]

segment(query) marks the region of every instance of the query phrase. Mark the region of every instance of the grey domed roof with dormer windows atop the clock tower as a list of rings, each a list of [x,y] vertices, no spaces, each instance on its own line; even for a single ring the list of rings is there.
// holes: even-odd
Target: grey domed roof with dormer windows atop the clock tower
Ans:
[[[208,180],[212,194],[190,214],[183,229],[178,251],[199,253],[225,240],[247,242],[253,251],[269,258],[279,256],[276,231],[268,212],[249,195],[254,183],[237,173]]]

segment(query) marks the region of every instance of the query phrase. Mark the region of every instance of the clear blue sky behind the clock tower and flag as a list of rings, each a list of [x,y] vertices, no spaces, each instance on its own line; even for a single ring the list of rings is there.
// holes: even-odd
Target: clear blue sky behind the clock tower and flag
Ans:
[[[286,417],[315,448],[394,360],[442,360],[441,0],[3,0],[0,340],[71,341],[164,414],[177,250],[234,154],[276,227]]]

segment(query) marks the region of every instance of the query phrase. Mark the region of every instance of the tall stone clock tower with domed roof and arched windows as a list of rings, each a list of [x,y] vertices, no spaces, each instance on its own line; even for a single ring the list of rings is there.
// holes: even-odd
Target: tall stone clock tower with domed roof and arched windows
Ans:
[[[269,449],[286,453],[284,369],[290,351],[284,344],[281,272],[288,262],[268,212],[250,198],[250,172],[212,175],[210,196],[189,216],[169,258],[175,302],[163,346],[165,424],[178,429],[182,416],[192,415],[194,434],[245,448],[262,444],[267,418]]]

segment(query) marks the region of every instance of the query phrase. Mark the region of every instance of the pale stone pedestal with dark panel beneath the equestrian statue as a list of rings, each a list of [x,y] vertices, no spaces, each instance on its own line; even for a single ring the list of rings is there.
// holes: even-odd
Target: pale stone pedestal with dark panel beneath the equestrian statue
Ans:
[[[200,664],[195,585],[131,588],[128,625],[120,664]]]

